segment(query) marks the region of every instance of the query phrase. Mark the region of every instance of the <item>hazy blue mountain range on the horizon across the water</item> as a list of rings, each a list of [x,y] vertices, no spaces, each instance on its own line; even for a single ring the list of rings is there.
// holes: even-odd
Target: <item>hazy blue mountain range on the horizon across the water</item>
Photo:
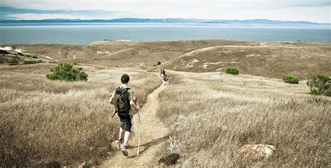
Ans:
[[[165,18],[165,19],[140,19],[140,18],[119,18],[113,20],[0,20],[1,24],[15,23],[196,23],[196,24],[260,24],[260,25],[301,25],[301,26],[330,26],[330,23],[316,23],[306,21],[281,21],[281,20],[205,20],[205,19],[182,19],[182,18]]]

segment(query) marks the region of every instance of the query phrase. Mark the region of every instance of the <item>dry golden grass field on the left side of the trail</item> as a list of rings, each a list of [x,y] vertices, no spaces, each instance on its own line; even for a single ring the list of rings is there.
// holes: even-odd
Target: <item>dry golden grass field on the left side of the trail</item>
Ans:
[[[161,84],[142,70],[102,66],[82,66],[87,82],[50,81],[45,74],[52,66],[0,66],[1,167],[96,164],[117,138],[108,98],[121,75],[131,75],[130,87],[142,104]]]

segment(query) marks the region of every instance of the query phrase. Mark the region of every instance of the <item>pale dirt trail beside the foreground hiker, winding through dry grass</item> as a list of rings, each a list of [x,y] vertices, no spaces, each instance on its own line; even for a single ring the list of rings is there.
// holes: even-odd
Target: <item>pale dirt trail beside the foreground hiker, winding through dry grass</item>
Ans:
[[[149,96],[147,102],[140,110],[141,119],[141,143],[140,155],[137,157],[139,124],[138,113],[133,116],[133,134],[128,142],[129,153],[125,157],[121,151],[117,151],[109,160],[105,160],[101,167],[136,167],[136,166],[152,166],[157,164],[154,160],[156,151],[168,139],[168,129],[159,119],[156,118],[156,111],[160,107],[159,93],[166,86],[160,86],[155,89]]]

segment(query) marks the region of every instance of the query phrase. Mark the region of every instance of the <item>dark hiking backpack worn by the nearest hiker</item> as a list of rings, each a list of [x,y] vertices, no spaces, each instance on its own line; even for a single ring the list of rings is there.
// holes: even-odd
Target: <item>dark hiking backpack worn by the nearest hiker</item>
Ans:
[[[114,105],[119,115],[127,115],[130,112],[130,101],[128,100],[130,88],[117,88],[115,90]]]

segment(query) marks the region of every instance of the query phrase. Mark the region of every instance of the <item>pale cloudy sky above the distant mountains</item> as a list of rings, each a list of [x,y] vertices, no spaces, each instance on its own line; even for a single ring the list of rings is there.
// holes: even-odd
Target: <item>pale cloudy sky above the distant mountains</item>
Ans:
[[[330,23],[330,0],[0,0],[1,20],[121,17]]]

